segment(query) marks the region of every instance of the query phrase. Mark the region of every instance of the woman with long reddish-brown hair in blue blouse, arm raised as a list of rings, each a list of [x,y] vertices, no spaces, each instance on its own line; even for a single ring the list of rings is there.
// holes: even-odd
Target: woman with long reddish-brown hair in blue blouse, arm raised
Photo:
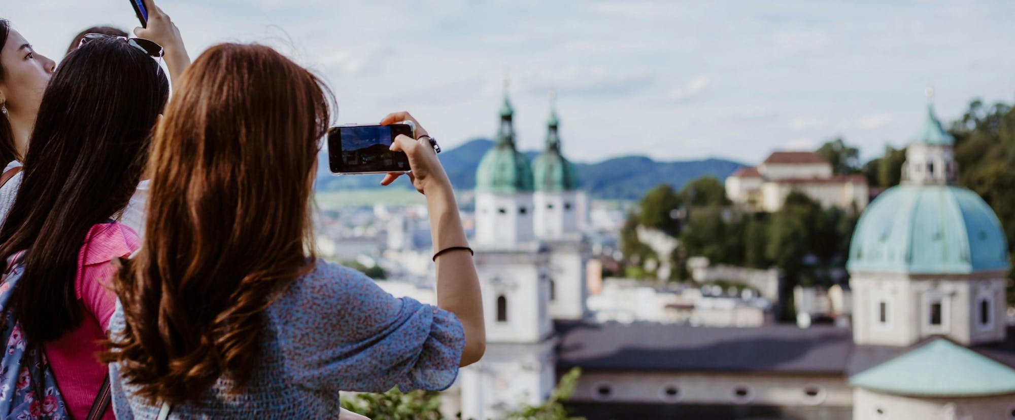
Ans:
[[[328,97],[262,46],[212,47],[184,73],[152,146],[141,251],[114,280],[118,418],[334,418],[339,391],[443,390],[482,356],[475,266],[418,123],[420,139],[393,149],[408,155],[434,249],[447,251],[434,258],[437,306],[314,258]]]

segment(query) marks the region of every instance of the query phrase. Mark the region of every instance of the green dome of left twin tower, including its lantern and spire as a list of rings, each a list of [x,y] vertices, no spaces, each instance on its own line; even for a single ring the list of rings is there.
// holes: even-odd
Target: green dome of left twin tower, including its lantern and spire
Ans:
[[[476,191],[493,194],[517,194],[533,191],[532,166],[515,149],[515,110],[507,95],[500,107],[500,128],[493,147],[486,151],[476,168]]]

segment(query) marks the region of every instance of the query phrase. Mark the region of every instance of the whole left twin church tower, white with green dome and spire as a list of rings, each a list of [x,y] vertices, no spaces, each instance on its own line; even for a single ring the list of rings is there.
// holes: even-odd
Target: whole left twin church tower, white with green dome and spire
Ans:
[[[533,177],[515,148],[504,94],[497,139],[476,171],[476,268],[483,293],[486,354],[462,369],[462,413],[498,418],[539,404],[554,386],[549,314],[550,255],[533,233]]]

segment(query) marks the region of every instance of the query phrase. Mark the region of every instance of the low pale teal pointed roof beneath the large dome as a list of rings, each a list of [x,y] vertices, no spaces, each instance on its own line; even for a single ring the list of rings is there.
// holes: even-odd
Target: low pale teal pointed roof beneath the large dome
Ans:
[[[910,397],[1015,394],[1015,369],[946,339],[935,339],[850,378],[850,384]]]

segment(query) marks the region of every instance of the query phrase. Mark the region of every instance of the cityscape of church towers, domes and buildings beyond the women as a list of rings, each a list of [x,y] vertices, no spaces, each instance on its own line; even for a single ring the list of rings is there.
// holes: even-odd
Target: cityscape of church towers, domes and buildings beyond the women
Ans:
[[[984,200],[955,187],[955,139],[932,109],[897,187],[839,173],[817,152],[774,151],[756,166],[698,173],[719,179],[720,197],[700,198],[713,184],[695,182],[697,197],[674,204],[662,225],[646,221],[648,189],[640,209],[590,199],[582,169],[560,153],[555,110],[536,155],[515,149],[506,95],[499,114],[491,144],[466,145],[483,151],[465,159],[473,184],[459,198],[487,353],[443,397],[448,417],[495,419],[540,404],[579,367],[567,406],[590,420],[1015,419],[1008,244]],[[820,281],[777,258],[751,267],[677,256],[691,236],[666,223],[698,228],[694,218],[712,210],[695,200],[722,203],[718,220],[731,224],[777,220],[803,200],[820,214],[856,214],[839,223],[851,220],[852,240],[817,270]],[[318,229],[323,257],[434,302],[422,204],[327,206]],[[630,236],[644,253],[624,252]],[[814,265],[815,254],[794,258]]]

